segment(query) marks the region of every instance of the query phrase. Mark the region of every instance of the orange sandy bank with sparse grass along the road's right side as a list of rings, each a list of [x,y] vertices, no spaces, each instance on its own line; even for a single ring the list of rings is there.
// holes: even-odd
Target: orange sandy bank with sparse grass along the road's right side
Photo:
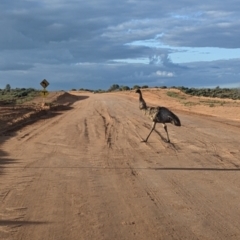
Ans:
[[[152,88],[143,89],[142,92],[149,105],[165,106],[179,112],[184,111],[240,121],[240,100],[191,96],[178,89]],[[138,99],[134,91],[117,94]]]

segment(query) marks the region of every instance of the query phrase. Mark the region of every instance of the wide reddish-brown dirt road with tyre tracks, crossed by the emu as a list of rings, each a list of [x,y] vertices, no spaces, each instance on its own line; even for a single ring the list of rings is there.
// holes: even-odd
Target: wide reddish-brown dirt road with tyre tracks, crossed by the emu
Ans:
[[[175,113],[171,144],[116,94],[1,136],[0,239],[240,239],[239,123]]]

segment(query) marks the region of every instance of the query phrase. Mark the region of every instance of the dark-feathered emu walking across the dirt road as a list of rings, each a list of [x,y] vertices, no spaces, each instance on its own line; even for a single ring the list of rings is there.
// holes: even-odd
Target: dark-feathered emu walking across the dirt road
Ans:
[[[155,129],[155,126],[157,123],[162,123],[163,128],[167,134],[167,142],[170,143],[170,139],[168,136],[168,131],[167,131],[167,125],[166,123],[172,123],[175,126],[181,126],[181,122],[179,118],[171,112],[169,109],[165,107],[148,107],[146,102],[144,101],[142,97],[142,92],[140,89],[136,90],[136,93],[139,94],[139,108],[143,113],[149,117],[152,121],[152,128],[150,130],[150,133],[148,134],[147,138],[143,140],[143,142],[147,142],[149,136],[151,135],[152,131]]]

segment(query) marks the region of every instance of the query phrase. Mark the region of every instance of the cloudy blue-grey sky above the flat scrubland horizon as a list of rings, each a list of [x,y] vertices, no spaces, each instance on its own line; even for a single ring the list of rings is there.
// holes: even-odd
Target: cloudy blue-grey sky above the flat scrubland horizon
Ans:
[[[1,0],[0,88],[240,87],[239,0]]]

